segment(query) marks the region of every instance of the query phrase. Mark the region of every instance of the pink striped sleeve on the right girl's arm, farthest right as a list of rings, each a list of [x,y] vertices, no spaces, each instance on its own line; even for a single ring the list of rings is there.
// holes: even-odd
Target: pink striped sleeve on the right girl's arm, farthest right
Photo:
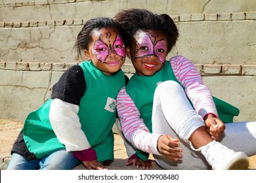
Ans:
[[[183,56],[171,58],[170,63],[177,80],[185,88],[186,95],[194,105],[196,112],[203,118],[207,114],[217,116],[217,110],[211,92],[203,84],[200,73],[194,64]]]

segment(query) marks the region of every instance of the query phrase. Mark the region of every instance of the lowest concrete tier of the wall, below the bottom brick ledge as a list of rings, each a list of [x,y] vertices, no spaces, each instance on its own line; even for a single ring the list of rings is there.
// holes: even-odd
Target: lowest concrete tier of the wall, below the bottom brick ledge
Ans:
[[[51,97],[53,84],[75,64],[0,62],[0,117],[23,121],[29,112]],[[240,108],[236,121],[256,119],[255,65],[198,64],[196,67],[213,95]],[[134,73],[130,64],[122,69],[128,76]]]

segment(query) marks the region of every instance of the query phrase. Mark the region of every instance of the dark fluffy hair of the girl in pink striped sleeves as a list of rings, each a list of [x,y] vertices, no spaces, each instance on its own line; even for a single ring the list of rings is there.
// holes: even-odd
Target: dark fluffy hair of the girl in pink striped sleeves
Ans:
[[[165,33],[168,41],[167,52],[175,46],[179,37],[177,26],[167,14],[154,14],[146,9],[131,8],[128,10],[121,10],[114,16],[114,21],[121,25],[127,37],[124,37],[126,45],[129,45],[131,38],[137,31],[158,30]]]

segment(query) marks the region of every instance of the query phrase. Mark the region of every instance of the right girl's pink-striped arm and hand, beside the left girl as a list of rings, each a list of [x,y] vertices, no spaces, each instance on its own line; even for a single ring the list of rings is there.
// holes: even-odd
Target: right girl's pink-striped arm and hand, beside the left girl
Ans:
[[[125,88],[121,88],[117,95],[117,112],[123,135],[135,148],[144,152],[165,156],[173,161],[177,161],[182,157],[179,139],[174,139],[170,135],[158,135],[149,132],[142,118],[140,118],[139,110],[131,97],[126,93]],[[129,160],[131,161],[128,163],[133,163],[138,167],[136,158],[130,158]]]

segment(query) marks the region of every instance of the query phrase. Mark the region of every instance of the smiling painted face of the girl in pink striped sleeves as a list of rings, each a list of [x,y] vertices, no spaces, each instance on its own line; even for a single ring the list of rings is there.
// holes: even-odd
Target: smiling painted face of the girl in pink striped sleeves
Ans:
[[[137,75],[152,76],[163,68],[167,37],[161,31],[138,31],[127,48],[127,55],[131,56]]]

